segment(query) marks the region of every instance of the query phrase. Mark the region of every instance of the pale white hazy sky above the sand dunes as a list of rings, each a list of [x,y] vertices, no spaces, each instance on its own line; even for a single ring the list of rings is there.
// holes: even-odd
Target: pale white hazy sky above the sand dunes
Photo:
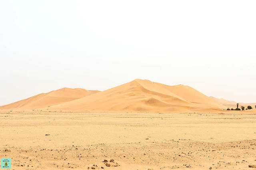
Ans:
[[[256,102],[255,0],[1,0],[0,105],[133,79]]]

